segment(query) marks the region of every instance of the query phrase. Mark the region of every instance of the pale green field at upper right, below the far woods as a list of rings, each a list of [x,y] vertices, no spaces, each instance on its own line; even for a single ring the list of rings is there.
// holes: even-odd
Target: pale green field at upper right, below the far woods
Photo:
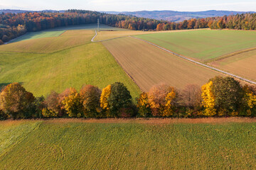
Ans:
[[[256,32],[244,30],[196,30],[135,37],[201,61],[256,46]]]

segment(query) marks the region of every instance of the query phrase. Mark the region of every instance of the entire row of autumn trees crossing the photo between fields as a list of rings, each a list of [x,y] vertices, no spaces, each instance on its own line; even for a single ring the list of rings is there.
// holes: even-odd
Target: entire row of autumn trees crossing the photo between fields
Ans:
[[[153,86],[132,102],[127,87],[116,82],[99,89],[85,85],[80,91],[52,91],[35,97],[21,86],[1,90],[0,118],[198,118],[256,115],[256,87],[242,86],[231,77],[215,77],[203,86],[182,90],[166,84]]]

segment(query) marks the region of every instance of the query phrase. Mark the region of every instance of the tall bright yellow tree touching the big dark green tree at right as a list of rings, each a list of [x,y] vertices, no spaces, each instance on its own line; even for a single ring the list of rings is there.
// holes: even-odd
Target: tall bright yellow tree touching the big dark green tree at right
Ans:
[[[208,117],[216,114],[215,109],[215,97],[213,95],[213,81],[209,81],[207,84],[202,86],[202,98],[203,98],[203,106],[206,108],[203,115]]]

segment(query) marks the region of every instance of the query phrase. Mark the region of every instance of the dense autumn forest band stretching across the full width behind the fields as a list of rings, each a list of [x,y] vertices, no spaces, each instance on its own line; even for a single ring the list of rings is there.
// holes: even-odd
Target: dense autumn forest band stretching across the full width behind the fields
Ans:
[[[0,45],[26,32],[60,26],[97,23],[97,18],[100,19],[100,23],[107,24],[108,26],[130,30],[182,30],[197,28],[255,30],[256,27],[255,13],[193,18],[179,23],[85,10],[68,10],[65,13],[1,13]]]

